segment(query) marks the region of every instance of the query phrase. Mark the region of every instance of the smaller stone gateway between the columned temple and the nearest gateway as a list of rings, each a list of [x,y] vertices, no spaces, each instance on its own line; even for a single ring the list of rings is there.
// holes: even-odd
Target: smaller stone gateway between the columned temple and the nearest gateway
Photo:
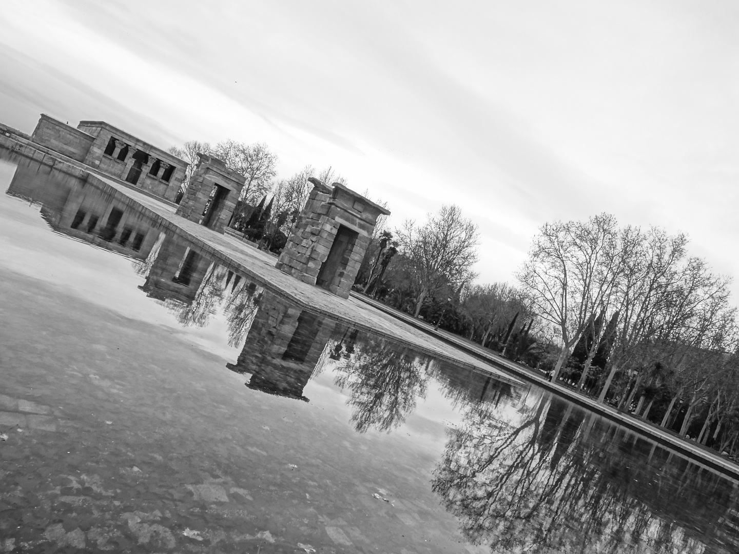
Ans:
[[[197,154],[198,162],[177,215],[223,233],[236,208],[246,177],[217,157]]]

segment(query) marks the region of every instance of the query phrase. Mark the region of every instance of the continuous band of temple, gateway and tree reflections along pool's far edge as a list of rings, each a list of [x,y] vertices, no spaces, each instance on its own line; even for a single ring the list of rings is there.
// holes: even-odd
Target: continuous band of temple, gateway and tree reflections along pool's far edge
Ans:
[[[684,456],[536,386],[304,310],[72,177],[19,160],[7,194],[41,205],[55,232],[132,259],[142,293],[181,325],[222,315],[228,343],[240,346],[227,367],[253,391],[310,402],[311,380],[330,377],[360,434],[392,434],[437,391],[459,423],[446,428],[435,471],[420,476],[471,544],[495,553],[739,548],[737,483]]]

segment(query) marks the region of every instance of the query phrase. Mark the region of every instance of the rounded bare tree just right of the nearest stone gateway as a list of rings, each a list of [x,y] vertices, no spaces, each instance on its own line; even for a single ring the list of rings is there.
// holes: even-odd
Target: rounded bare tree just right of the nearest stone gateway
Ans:
[[[409,259],[418,295],[415,316],[423,300],[446,284],[460,285],[474,278],[472,264],[477,261],[480,233],[456,205],[442,206],[422,226],[407,220],[395,231],[401,253]]]

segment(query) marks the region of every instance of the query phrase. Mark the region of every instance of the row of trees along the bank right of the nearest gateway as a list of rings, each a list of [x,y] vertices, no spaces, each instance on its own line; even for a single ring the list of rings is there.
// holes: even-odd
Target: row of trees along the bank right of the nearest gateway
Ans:
[[[476,284],[477,228],[456,206],[406,222],[381,282],[358,290],[546,372],[601,403],[739,453],[739,334],[731,279],[688,253],[684,233],[602,213],[549,222],[516,284]],[[370,245],[370,250],[372,245]],[[376,273],[375,273],[376,274]],[[364,281],[363,281],[364,279]],[[362,283],[364,288],[362,287]]]

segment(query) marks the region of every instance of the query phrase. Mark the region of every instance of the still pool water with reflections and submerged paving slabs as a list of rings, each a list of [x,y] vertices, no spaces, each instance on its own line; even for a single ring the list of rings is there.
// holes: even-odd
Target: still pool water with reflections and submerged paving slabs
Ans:
[[[739,550],[735,481],[4,151],[0,188],[0,551]]]

